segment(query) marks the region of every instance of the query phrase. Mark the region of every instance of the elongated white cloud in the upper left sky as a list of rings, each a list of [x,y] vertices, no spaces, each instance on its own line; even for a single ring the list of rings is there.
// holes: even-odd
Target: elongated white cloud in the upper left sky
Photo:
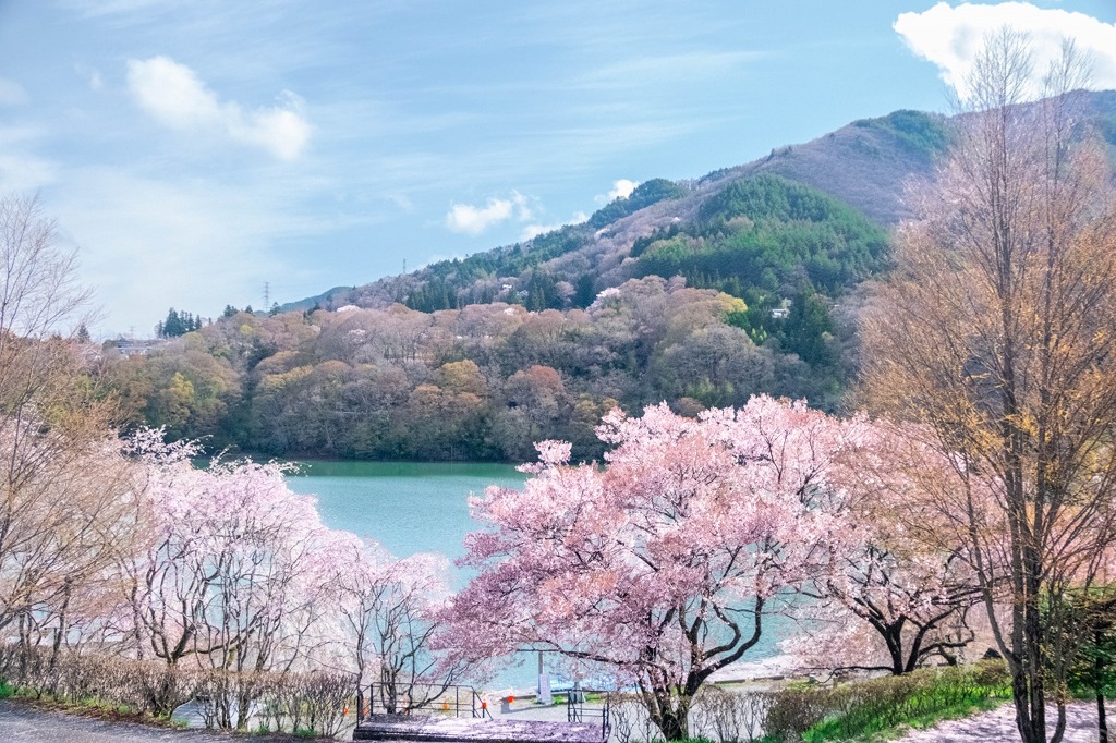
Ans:
[[[217,134],[295,160],[310,138],[302,99],[283,90],[277,105],[246,112],[222,102],[192,69],[169,57],[128,60],[128,89],[136,104],[164,126]]]

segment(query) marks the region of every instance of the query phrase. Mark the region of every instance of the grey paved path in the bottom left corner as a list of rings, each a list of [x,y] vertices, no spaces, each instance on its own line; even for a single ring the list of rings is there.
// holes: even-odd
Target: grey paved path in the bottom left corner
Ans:
[[[3,743],[290,743],[306,739],[231,735],[203,731],[150,727],[39,710],[0,699],[0,741]]]

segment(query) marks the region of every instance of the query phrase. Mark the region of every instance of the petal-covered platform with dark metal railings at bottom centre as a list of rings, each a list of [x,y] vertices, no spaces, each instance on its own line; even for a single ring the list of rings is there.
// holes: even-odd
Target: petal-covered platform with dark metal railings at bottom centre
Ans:
[[[529,707],[512,708],[504,701],[496,715],[488,702],[468,686],[402,692],[373,684],[359,695],[362,711],[354,741],[411,743],[605,743],[610,732],[607,696],[586,704],[586,695],[568,694],[561,706],[540,710],[547,720],[525,720]],[[533,712],[533,711],[531,711]],[[535,715],[532,715],[535,716]],[[562,720],[561,717],[565,717]]]

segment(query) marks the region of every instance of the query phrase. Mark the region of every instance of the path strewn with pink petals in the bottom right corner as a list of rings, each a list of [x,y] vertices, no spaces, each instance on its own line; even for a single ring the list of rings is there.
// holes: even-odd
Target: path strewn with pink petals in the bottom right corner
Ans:
[[[1057,715],[1051,706],[1048,717]],[[1052,720],[1048,718],[1052,728]],[[1109,736],[1116,726],[1116,710],[1108,708]],[[1019,740],[1016,730],[1016,708],[1009,703],[965,720],[939,723],[929,730],[915,731],[901,737],[897,743],[1011,743]],[[1066,707],[1065,743],[1096,743],[1097,707],[1095,704],[1071,704]]]

